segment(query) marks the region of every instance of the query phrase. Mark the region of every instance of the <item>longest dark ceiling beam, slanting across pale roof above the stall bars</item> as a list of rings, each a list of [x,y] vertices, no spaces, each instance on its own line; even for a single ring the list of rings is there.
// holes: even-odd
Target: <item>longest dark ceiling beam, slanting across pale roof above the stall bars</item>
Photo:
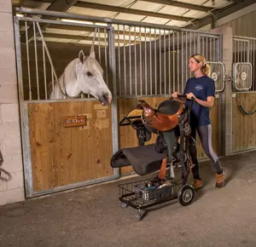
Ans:
[[[80,7],[80,8],[86,8],[86,9],[101,9],[101,10],[107,10],[107,11],[118,12],[118,13],[126,13],[126,14],[139,14],[143,16],[165,18],[167,20],[182,20],[186,22],[195,20],[194,18],[183,17],[183,16],[178,16],[173,14],[161,14],[161,13],[155,13],[150,11],[121,8],[121,7],[110,6],[106,4],[98,4],[98,3],[78,2],[74,4],[74,6]]]

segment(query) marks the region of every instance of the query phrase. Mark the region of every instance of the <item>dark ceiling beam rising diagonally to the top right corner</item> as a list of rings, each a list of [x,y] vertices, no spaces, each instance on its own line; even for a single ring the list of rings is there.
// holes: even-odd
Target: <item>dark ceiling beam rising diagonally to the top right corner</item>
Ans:
[[[215,9],[212,11],[211,15],[208,15],[206,18],[202,18],[201,20],[191,21],[192,24],[184,26],[184,28],[189,28],[193,30],[199,29],[202,26],[207,26],[208,24],[211,24],[212,21],[216,21],[229,14],[233,14],[236,11],[244,9],[253,3],[255,3],[255,0],[234,0],[233,3],[231,3],[229,6],[226,6],[223,9]]]

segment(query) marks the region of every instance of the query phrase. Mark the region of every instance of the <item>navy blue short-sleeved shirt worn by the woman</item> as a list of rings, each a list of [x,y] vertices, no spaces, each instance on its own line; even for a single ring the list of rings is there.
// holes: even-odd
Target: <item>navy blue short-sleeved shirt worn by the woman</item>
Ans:
[[[207,101],[207,97],[215,97],[215,83],[212,78],[202,76],[201,78],[189,78],[186,83],[183,94],[193,93],[196,98]],[[190,100],[186,101],[189,106]],[[191,111],[190,124],[193,126],[203,126],[211,124],[209,108],[201,106],[197,102],[194,103]]]

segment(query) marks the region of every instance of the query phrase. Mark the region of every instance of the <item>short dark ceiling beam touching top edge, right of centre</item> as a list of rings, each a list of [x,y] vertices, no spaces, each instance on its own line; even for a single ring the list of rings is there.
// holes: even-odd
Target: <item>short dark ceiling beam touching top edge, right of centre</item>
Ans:
[[[198,11],[202,11],[202,12],[208,12],[208,11],[212,11],[214,9],[211,7],[206,7],[206,6],[201,6],[201,5],[191,4],[191,3],[171,1],[171,0],[157,0],[157,1],[155,1],[155,0],[140,0],[140,1],[145,1],[145,2],[150,2],[150,3],[160,3],[160,4],[175,6],[175,7],[184,8],[184,9],[194,9],[194,10],[198,10]]]

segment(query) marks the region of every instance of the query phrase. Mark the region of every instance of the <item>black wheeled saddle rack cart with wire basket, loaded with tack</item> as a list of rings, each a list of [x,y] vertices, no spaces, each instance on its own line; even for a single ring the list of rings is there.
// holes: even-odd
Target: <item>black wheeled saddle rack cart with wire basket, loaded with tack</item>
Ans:
[[[185,97],[185,95],[178,96]],[[120,149],[113,155],[111,166],[119,168],[131,165],[137,175],[143,176],[161,170],[166,158],[166,163],[169,164],[169,173],[167,175],[166,171],[164,178],[156,176],[148,180],[143,179],[119,185],[121,207],[131,206],[131,208],[136,209],[137,220],[143,218],[146,213],[145,209],[148,207],[173,199],[178,199],[181,205],[187,206],[192,203],[195,196],[194,188],[187,184],[189,169],[192,168],[189,156],[189,145],[191,145],[191,141],[189,142],[189,121],[194,101],[191,101],[189,108],[183,106],[182,111],[178,111],[178,109],[181,109],[181,103],[174,101],[172,98],[161,102],[157,109],[151,108],[145,101],[140,102],[146,108],[137,107],[119,122],[119,126],[131,125],[133,129],[136,129],[138,146]],[[150,121],[148,121],[149,124],[147,123],[149,119],[146,118],[148,109],[149,112],[152,112],[153,109],[156,115],[153,118],[159,118],[160,122],[164,121],[166,116],[170,116],[170,119],[172,119],[172,116],[178,113],[177,126],[166,131],[154,129],[154,124],[150,125]],[[161,115],[157,115],[157,113]],[[157,135],[156,142],[144,145],[146,141],[151,139],[152,133]],[[175,142],[170,143],[170,140],[175,140]],[[180,182],[173,181],[173,166],[175,164],[182,170],[182,181]]]

